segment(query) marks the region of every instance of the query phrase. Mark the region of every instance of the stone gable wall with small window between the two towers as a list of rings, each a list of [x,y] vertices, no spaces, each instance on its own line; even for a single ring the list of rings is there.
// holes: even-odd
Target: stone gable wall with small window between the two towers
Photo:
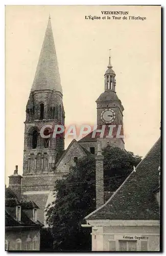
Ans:
[[[79,145],[76,140],[73,140],[67,147],[66,151],[63,153],[62,157],[56,164],[57,172],[68,173],[70,167],[75,165],[78,159],[87,156],[87,153]]]

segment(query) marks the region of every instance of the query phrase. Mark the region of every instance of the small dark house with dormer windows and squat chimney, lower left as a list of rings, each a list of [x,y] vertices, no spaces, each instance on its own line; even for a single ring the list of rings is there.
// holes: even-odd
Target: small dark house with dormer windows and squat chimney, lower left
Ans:
[[[20,200],[22,177],[17,167],[5,188],[5,250],[40,250],[43,224],[37,217],[39,207],[33,201]]]

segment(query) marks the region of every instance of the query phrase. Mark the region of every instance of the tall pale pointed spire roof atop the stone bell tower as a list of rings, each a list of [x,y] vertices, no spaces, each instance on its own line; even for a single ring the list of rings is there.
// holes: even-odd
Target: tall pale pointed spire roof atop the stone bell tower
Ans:
[[[54,89],[62,93],[50,16],[31,91],[41,89]]]

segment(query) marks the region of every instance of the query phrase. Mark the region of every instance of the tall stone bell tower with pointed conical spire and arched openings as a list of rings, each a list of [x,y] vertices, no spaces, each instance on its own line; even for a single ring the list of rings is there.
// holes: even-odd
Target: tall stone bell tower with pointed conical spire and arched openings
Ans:
[[[39,219],[43,221],[43,209],[55,180],[55,162],[64,150],[64,136],[53,138],[50,129],[43,126],[64,125],[62,87],[57,55],[54,45],[51,18],[45,31],[35,78],[26,107],[25,141],[23,151],[23,176],[21,194],[33,200],[41,209]]]

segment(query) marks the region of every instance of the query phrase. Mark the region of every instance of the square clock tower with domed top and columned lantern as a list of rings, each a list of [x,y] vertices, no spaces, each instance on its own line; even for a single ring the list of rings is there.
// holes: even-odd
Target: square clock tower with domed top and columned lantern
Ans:
[[[115,88],[115,72],[112,70],[111,61],[109,57],[109,64],[105,72],[105,90],[96,100],[97,102],[97,124],[98,126],[106,125],[106,129],[109,130],[109,125],[116,125],[114,128],[118,133],[121,129],[121,135],[123,134],[123,111],[124,107],[121,100],[117,97]],[[121,126],[122,125],[122,126]],[[118,127],[119,126],[119,127]],[[113,130],[112,135],[114,135]],[[115,137],[115,136],[114,136]],[[124,141],[122,138],[107,138],[106,143],[116,144],[124,148]],[[115,145],[114,145],[115,146]]]

